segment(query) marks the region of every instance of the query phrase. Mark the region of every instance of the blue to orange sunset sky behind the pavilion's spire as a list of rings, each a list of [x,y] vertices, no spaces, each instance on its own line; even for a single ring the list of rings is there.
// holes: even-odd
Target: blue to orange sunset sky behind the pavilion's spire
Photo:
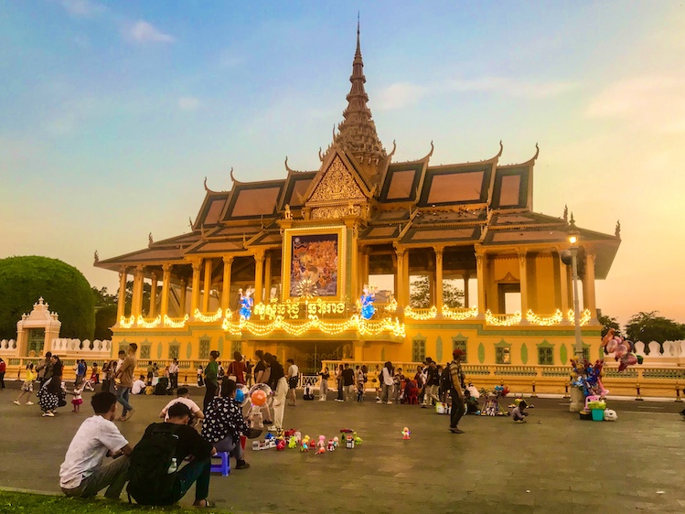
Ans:
[[[319,166],[366,91],[395,160],[540,156],[533,208],[622,243],[597,306],[685,322],[685,5],[603,2],[0,4],[0,258],[101,259],[187,232],[205,195]]]

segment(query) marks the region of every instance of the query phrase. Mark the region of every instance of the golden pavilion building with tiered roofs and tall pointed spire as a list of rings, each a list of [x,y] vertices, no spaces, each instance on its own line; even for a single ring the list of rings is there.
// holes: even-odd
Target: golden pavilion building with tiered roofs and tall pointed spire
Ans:
[[[190,232],[96,258],[120,275],[112,351],[136,342],[141,359],[177,358],[188,369],[212,349],[230,359],[257,348],[305,371],[323,360],[444,362],[453,348],[472,372],[565,366],[575,344],[573,281],[561,255],[573,230],[583,352],[600,358],[594,283],[609,272],[619,227],[604,234],[576,228],[566,211],[535,212],[537,151],[503,166],[500,143],[482,161],[434,166],[431,144],[423,157],[393,161],[365,81],[358,30],[348,105],[318,169],[295,171],[286,159],[282,177],[259,182],[231,169],[230,191],[205,180]],[[366,284],[378,288],[369,319],[359,305]],[[251,289],[248,319],[239,299]]]

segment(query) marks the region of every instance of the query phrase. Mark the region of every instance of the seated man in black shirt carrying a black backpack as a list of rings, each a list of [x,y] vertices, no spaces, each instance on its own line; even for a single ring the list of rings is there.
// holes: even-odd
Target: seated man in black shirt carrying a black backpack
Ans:
[[[168,410],[169,420],[166,423],[178,425],[174,434],[178,436],[176,446],[176,459],[180,466],[188,456],[192,460],[186,466],[178,470],[176,481],[174,482],[173,499],[177,502],[183,498],[188,489],[197,482],[195,487],[196,507],[209,507],[209,471],[211,467],[211,455],[217,450],[202,439],[200,434],[189,426],[192,412],[185,403],[174,403]],[[164,423],[153,423],[145,429],[145,435],[155,430],[155,426]],[[144,437],[144,436],[143,436]]]

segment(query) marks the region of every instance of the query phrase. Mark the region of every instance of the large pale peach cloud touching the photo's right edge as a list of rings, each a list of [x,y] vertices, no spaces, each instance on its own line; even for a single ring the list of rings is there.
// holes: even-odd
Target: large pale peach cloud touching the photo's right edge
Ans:
[[[585,109],[594,119],[615,119],[660,133],[685,132],[685,76],[642,75],[618,80]]]

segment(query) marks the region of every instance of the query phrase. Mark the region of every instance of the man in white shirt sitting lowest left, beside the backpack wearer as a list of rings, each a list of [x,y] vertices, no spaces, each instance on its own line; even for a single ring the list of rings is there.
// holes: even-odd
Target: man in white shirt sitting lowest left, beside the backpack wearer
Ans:
[[[81,423],[59,466],[59,487],[68,497],[87,498],[107,487],[105,497],[116,499],[128,480],[133,448],[112,423],[116,416],[116,395],[96,392],[91,398],[95,415]],[[102,465],[102,459],[115,460]]]

